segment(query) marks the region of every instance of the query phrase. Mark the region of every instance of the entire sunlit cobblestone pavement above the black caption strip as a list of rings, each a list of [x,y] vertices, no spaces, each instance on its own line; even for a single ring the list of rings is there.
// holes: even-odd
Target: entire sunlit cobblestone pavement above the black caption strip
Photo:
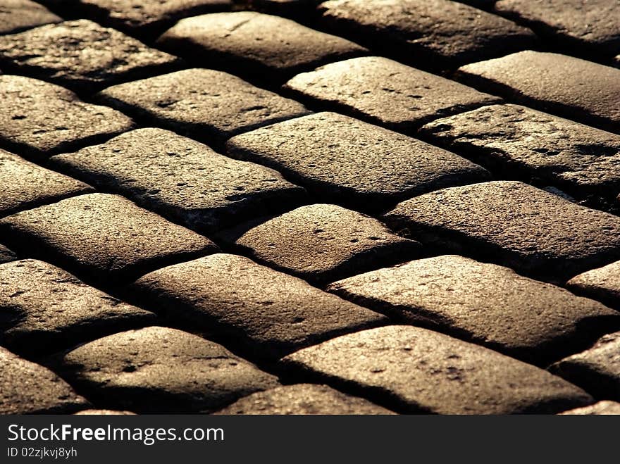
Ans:
[[[4,0],[0,413],[619,414],[620,2]]]

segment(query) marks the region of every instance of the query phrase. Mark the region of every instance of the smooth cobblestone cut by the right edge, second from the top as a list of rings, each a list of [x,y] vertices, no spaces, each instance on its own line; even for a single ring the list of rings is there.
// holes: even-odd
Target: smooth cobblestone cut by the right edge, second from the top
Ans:
[[[620,70],[572,56],[521,51],[459,68],[466,84],[620,131]]]

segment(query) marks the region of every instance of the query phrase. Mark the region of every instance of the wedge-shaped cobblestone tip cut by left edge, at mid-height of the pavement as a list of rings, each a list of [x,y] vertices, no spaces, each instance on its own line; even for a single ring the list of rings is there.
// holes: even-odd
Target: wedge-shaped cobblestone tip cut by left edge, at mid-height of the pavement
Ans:
[[[0,216],[90,192],[87,184],[0,149]]]

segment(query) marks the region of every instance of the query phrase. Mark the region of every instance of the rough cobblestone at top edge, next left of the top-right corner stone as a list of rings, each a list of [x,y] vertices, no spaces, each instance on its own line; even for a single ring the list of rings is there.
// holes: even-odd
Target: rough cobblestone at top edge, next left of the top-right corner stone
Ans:
[[[456,1],[333,0],[319,8],[333,32],[412,63],[454,67],[535,42],[528,28]]]

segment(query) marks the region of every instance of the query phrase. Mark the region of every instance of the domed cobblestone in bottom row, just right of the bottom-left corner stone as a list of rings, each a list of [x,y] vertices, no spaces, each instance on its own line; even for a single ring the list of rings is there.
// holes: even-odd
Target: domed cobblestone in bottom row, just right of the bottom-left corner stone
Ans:
[[[105,408],[146,413],[227,406],[278,380],[223,346],[164,327],[110,335],[64,354],[63,376]]]

